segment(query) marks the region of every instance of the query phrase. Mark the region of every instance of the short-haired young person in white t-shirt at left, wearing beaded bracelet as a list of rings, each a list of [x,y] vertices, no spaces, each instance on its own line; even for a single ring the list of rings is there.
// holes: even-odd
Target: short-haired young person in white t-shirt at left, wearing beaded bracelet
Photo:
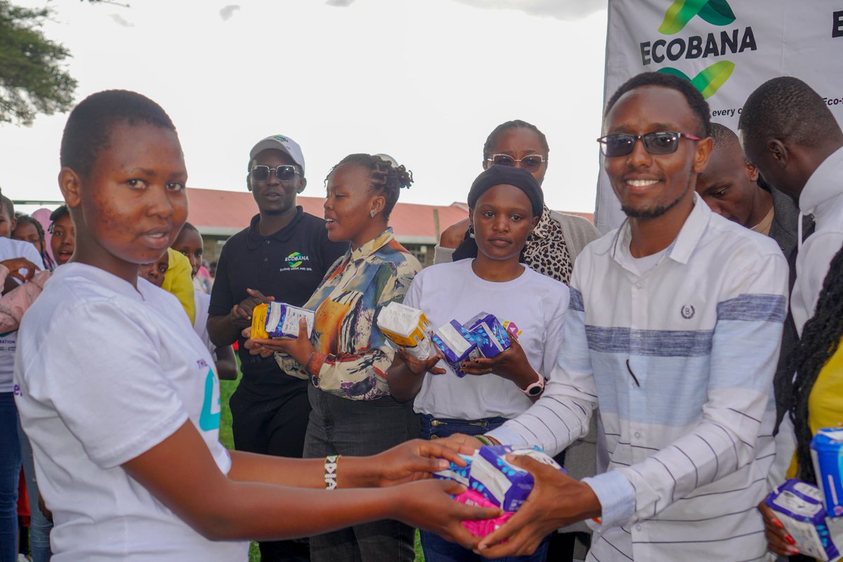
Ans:
[[[180,142],[158,104],[89,96],[67,120],[61,162],[76,252],[23,319],[14,373],[55,562],[243,560],[248,539],[383,518],[475,546],[459,521],[497,511],[457,504],[458,486],[410,483],[443,467],[429,456],[454,458],[446,447],[290,459],[220,444],[212,357],[175,297],[137,276],[187,215]],[[353,486],[373,488],[343,490]]]

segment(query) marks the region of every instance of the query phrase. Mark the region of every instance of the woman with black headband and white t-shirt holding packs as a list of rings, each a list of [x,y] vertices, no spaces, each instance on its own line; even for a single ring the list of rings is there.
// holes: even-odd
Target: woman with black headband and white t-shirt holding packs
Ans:
[[[421,309],[434,329],[452,319],[462,324],[477,313],[492,313],[510,334],[512,347],[491,359],[464,361],[460,368],[467,375],[461,378],[440,361],[441,354],[419,361],[403,348],[398,351],[387,377],[389,390],[398,400],[415,398],[426,439],[486,433],[528,409],[556,361],[568,306],[567,286],[520,262],[544,203],[534,177],[524,169],[491,166],[475,179],[468,203],[469,253],[475,257],[422,270],[404,303]],[[432,533],[421,533],[421,545],[428,559],[481,560]],[[543,543],[523,559],[543,560],[546,548]]]

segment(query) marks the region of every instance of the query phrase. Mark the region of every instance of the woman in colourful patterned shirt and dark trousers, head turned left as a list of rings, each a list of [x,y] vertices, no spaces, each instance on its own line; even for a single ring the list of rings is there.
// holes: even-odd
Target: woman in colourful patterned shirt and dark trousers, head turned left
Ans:
[[[385,373],[395,351],[374,323],[381,307],[403,301],[421,270],[389,228],[389,213],[412,174],[379,156],[351,154],[325,184],[328,237],[351,248],[304,304],[316,313],[312,337],[302,321],[297,340],[246,341],[251,353],[277,352],[285,372],[298,370],[313,383],[306,458],[380,452],[419,433],[412,404],[389,395]],[[411,562],[413,538],[403,523],[373,522],[310,538],[310,556],[314,562]]]

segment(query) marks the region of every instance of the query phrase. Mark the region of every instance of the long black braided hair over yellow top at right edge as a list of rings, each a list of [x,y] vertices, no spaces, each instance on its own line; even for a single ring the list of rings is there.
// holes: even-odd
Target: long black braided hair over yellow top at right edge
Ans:
[[[817,309],[805,323],[802,340],[793,350],[788,363],[789,372],[796,371],[790,416],[796,429],[797,477],[816,484],[811,460],[813,434],[808,425],[808,397],[819,372],[837,351],[843,337],[843,248],[835,254],[819,293]]]

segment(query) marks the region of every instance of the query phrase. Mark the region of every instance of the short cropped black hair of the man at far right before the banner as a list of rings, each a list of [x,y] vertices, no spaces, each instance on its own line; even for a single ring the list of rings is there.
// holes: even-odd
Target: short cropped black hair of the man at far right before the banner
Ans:
[[[803,147],[819,147],[843,138],[828,105],[799,78],[780,76],[749,94],[738,120],[744,142],[753,146],[771,138]]]

